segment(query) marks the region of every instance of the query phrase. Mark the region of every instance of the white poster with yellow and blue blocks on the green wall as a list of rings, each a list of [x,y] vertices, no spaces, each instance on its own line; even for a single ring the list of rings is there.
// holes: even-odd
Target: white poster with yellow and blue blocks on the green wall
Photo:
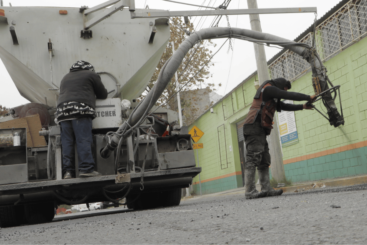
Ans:
[[[293,104],[291,100],[284,100],[284,103]],[[278,125],[280,133],[280,142],[282,147],[298,143],[298,133],[294,111],[278,112]]]

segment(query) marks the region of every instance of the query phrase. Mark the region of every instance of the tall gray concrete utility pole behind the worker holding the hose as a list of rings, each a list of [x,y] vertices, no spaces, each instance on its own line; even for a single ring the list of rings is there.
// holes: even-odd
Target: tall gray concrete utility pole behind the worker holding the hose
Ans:
[[[247,0],[248,8],[257,8],[256,0]],[[251,30],[257,30],[261,32],[260,18],[258,14],[250,14]],[[260,84],[269,80],[268,64],[266,64],[265,48],[262,44],[254,43],[255,58],[257,65],[257,74],[259,82],[255,82],[255,88],[258,89]],[[272,177],[278,182],[285,178],[283,156],[280,148],[279,133],[278,133],[278,122],[276,115],[274,116],[274,129],[270,136],[268,136],[269,152],[272,159],[270,165]]]

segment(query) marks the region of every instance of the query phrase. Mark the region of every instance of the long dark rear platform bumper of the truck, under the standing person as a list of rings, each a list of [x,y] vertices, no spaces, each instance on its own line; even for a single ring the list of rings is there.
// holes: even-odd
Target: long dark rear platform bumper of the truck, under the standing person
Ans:
[[[164,188],[184,188],[192,182],[192,178],[201,172],[201,167],[189,167],[183,169],[156,170],[143,173],[143,185],[145,191],[163,190]],[[40,200],[54,200],[57,197],[54,191],[80,191],[92,188],[120,188],[127,183],[132,184],[131,193],[138,192],[142,187],[141,173],[127,173],[119,175],[107,175],[88,178],[67,180],[46,180],[28,183],[0,185],[0,205],[14,205],[21,200],[34,202]],[[134,188],[136,187],[136,188]],[[22,195],[22,197],[20,197]]]

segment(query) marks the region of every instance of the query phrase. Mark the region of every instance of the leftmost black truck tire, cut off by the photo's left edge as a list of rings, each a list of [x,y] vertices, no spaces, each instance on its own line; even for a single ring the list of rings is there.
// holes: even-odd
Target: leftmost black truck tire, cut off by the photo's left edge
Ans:
[[[0,207],[0,227],[12,227],[26,224],[23,205]]]

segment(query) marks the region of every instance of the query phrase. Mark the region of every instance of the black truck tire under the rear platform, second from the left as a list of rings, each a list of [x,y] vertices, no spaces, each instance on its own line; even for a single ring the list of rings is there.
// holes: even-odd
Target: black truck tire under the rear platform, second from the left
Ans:
[[[55,217],[54,203],[44,202],[25,204],[24,213],[28,224],[50,222]]]

